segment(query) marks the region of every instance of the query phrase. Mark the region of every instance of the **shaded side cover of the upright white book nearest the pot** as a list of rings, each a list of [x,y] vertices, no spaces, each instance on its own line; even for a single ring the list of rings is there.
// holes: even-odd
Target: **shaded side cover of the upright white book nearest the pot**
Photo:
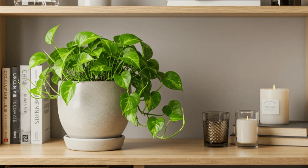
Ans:
[[[43,66],[42,70],[45,70],[48,68],[48,66]],[[50,75],[49,75],[50,76]],[[46,79],[50,83],[50,77]],[[46,85],[47,91],[50,93],[50,86]],[[45,88],[43,89],[45,90]],[[45,90],[46,91],[46,90]],[[45,94],[45,97],[48,97],[48,95]],[[43,141],[42,143],[46,142],[48,139],[50,139],[50,99],[43,98]]]

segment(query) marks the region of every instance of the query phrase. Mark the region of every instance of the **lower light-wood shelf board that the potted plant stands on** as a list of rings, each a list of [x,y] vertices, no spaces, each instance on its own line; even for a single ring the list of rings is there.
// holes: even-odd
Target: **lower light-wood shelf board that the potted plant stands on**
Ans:
[[[0,165],[307,165],[308,147],[207,148],[203,139],[126,139],[121,150],[81,152],[63,139],[0,145]]]

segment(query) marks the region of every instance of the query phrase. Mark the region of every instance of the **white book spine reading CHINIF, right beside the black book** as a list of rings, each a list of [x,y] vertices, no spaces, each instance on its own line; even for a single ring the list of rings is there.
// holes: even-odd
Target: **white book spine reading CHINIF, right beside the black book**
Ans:
[[[20,66],[20,143],[31,143],[31,89],[29,66]],[[29,79],[29,80],[27,80]]]

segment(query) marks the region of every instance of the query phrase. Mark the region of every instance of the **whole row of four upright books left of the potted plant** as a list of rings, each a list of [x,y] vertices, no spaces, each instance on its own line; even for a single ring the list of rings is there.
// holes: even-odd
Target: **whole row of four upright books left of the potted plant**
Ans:
[[[3,144],[42,144],[50,139],[50,99],[34,99],[27,91],[35,88],[29,80],[36,84],[46,68],[46,66],[36,66],[31,70],[29,66],[2,68]],[[47,80],[49,82],[50,78]],[[47,84],[46,89],[50,92]]]

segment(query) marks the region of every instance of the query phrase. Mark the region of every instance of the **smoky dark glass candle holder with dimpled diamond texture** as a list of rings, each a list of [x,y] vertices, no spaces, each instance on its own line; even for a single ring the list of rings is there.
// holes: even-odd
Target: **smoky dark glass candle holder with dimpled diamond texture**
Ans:
[[[228,112],[203,112],[204,146],[226,147],[229,136]]]

